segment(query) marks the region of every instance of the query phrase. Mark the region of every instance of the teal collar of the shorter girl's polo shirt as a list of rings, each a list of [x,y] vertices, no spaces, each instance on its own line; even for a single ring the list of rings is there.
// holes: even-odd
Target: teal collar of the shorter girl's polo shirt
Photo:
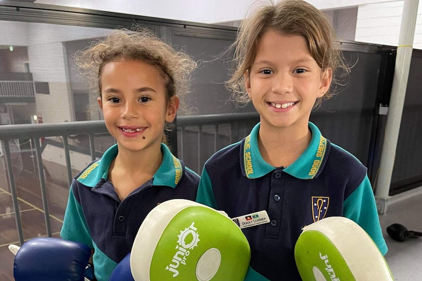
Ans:
[[[161,151],[163,152],[163,161],[153,176],[152,185],[165,185],[175,188],[185,167],[163,143],[161,144]],[[104,152],[101,159],[81,173],[76,180],[86,186],[94,187],[101,179],[107,179],[110,164],[116,158],[117,152],[117,144],[115,144]]]

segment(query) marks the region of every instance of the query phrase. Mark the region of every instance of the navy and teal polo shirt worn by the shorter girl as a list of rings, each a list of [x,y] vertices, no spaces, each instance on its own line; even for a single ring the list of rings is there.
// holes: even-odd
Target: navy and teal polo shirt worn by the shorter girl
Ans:
[[[154,176],[120,201],[107,179],[117,145],[73,179],[60,235],[94,249],[94,272],[108,281],[117,263],[133,245],[145,216],[169,199],[195,200],[199,176],[161,145],[163,162]],[[145,241],[147,242],[147,241]]]

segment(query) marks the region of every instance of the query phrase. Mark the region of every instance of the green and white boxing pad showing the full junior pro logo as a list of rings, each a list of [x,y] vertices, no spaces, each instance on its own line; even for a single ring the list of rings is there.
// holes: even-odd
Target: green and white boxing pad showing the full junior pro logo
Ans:
[[[248,240],[225,214],[185,200],[168,200],[142,222],[133,243],[135,281],[243,281]]]

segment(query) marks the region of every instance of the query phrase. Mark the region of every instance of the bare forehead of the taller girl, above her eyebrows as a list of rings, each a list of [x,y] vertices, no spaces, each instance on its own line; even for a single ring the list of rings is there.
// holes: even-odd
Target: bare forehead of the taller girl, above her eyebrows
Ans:
[[[286,35],[274,30],[266,31],[258,40],[255,62],[260,61],[314,61],[305,37]]]

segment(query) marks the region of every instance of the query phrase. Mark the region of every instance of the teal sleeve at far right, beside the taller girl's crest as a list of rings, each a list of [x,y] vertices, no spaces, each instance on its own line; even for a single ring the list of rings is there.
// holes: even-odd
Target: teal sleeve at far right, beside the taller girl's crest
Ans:
[[[358,188],[344,201],[343,216],[360,225],[374,240],[382,255],[387,253],[387,244],[382,236],[375,197],[368,176],[365,176]]]

